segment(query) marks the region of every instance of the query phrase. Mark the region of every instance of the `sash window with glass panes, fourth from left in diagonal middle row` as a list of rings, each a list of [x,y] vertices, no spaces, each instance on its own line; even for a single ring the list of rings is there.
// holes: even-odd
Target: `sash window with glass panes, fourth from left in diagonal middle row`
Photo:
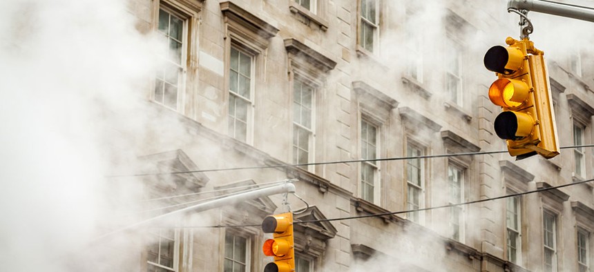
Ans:
[[[377,159],[378,128],[361,120],[361,159]],[[379,163],[361,162],[361,198],[368,202],[379,202]]]

